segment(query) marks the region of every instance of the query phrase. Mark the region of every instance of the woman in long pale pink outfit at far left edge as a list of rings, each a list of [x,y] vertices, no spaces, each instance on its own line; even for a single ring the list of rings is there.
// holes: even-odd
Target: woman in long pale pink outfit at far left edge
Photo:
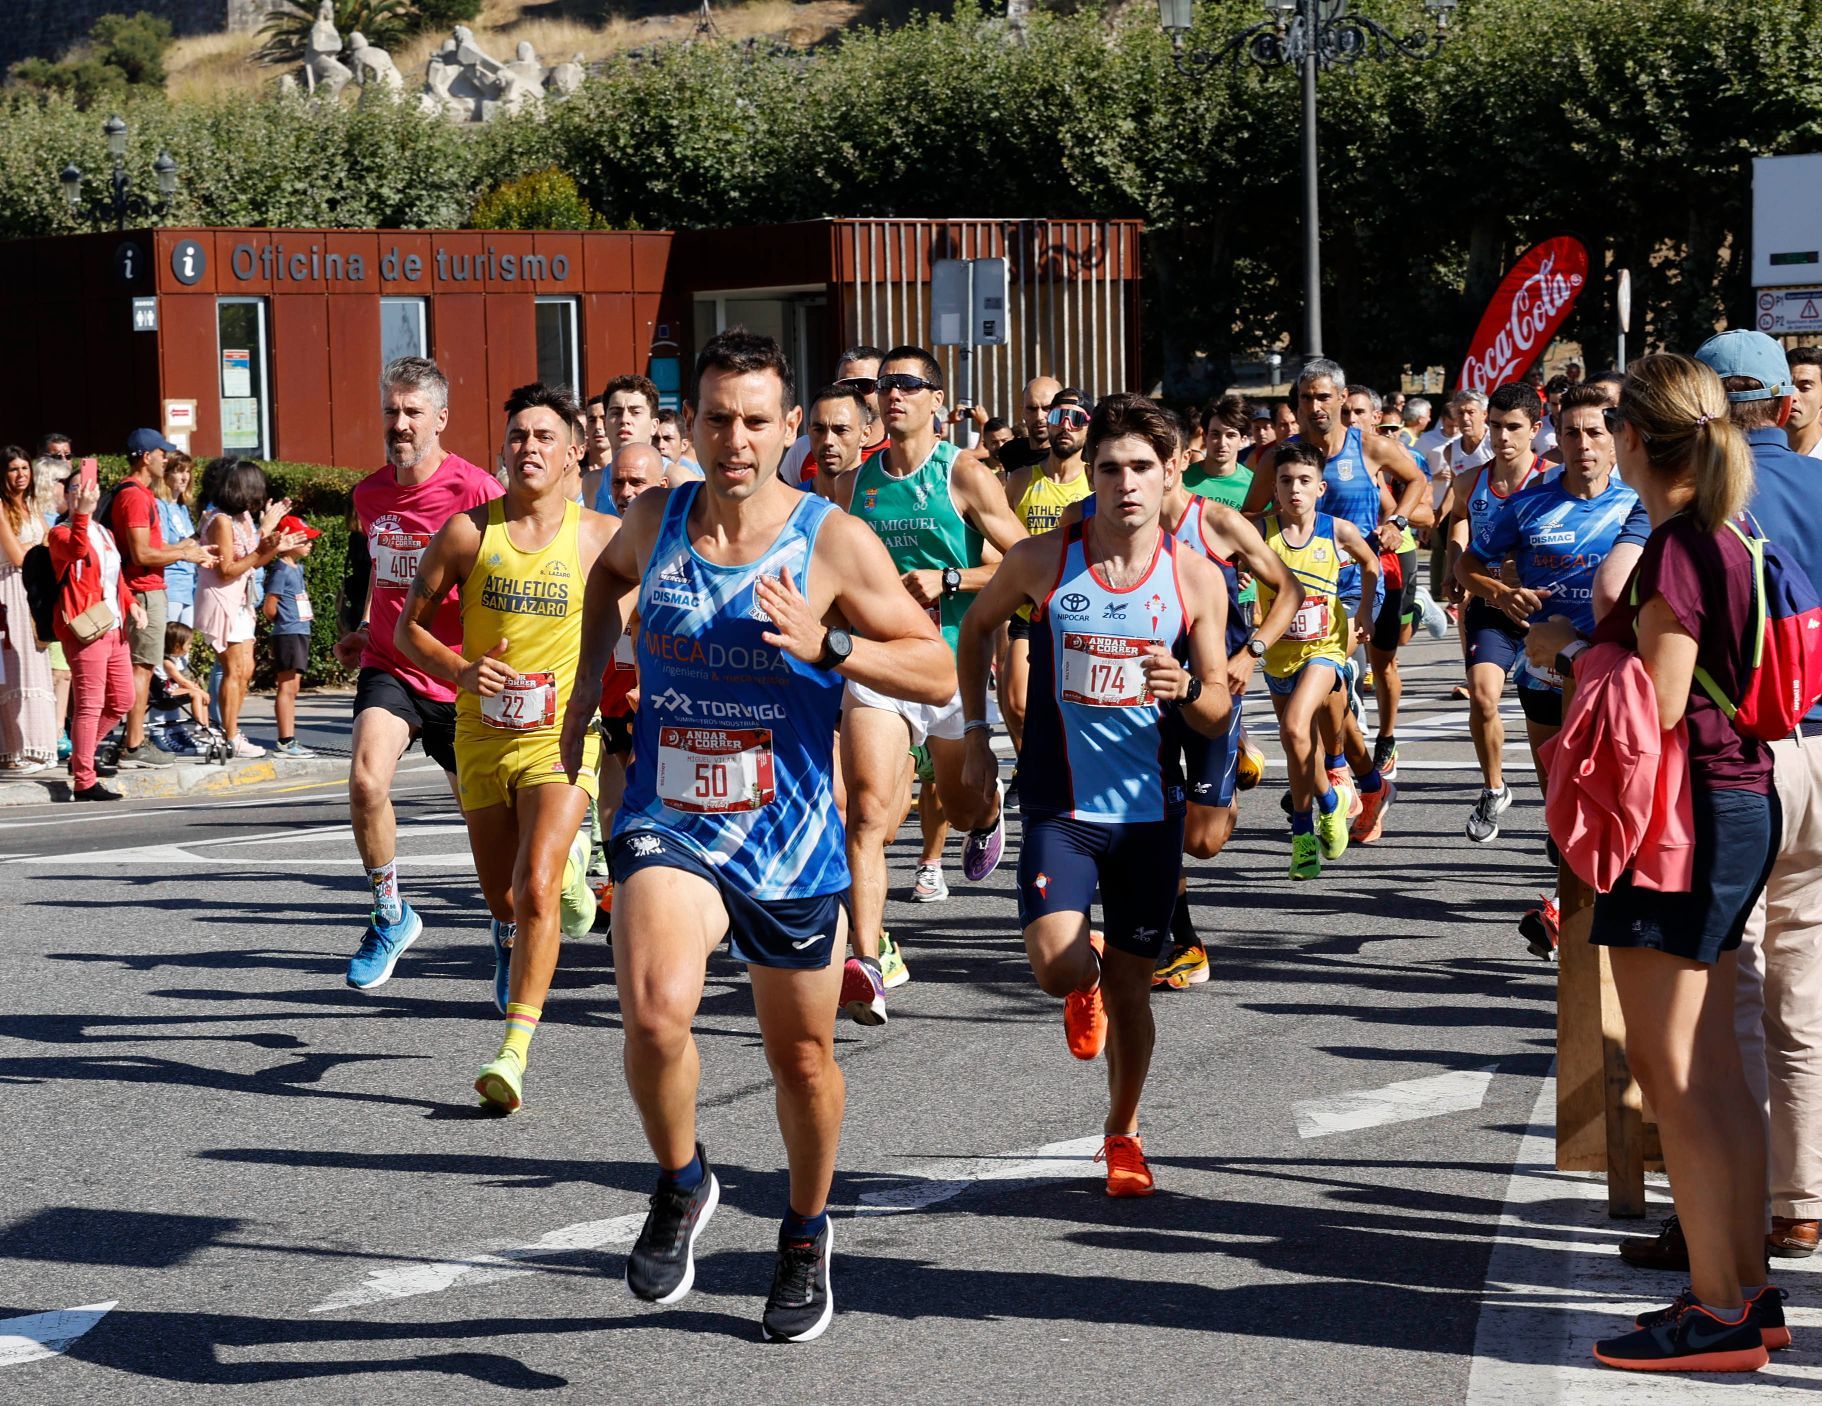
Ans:
[[[31,776],[56,758],[56,690],[51,683],[51,657],[31,628],[26,579],[20,566],[26,552],[47,532],[36,510],[33,468],[26,450],[7,444],[0,477],[0,610],[5,612],[5,639],[0,641],[0,776]]]

